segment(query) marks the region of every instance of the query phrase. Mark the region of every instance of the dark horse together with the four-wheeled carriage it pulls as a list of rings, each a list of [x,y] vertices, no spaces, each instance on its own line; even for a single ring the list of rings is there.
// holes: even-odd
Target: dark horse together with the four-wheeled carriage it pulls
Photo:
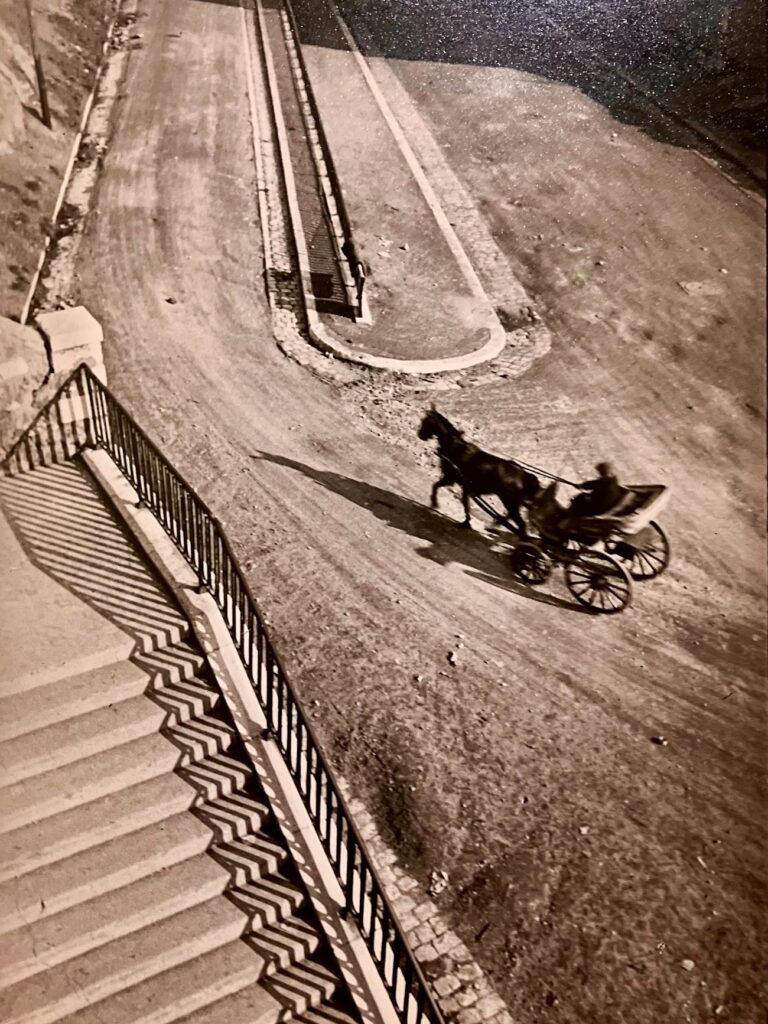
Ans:
[[[442,475],[432,487],[432,507],[437,507],[439,487],[460,484],[465,526],[470,524],[472,498],[484,512],[522,538],[512,548],[510,558],[513,572],[524,583],[545,583],[553,565],[559,563],[565,584],[580,604],[612,614],[623,611],[632,600],[633,581],[652,580],[667,568],[670,544],[654,517],[669,501],[668,487],[622,487],[621,498],[607,511],[573,515],[557,501],[558,477],[482,452],[435,409],[424,417],[419,436],[422,440],[437,439]],[[543,488],[539,476],[552,482]],[[499,497],[507,515],[499,515],[484,500],[485,495]],[[527,523],[521,508],[527,510]]]

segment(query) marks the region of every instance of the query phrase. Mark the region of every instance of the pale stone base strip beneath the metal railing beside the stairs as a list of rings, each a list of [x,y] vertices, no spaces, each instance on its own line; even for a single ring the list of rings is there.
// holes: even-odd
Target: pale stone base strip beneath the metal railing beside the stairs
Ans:
[[[309,814],[275,743],[264,737],[266,718],[213,597],[198,592],[198,577],[109,454],[81,458],[139,549],[189,621],[232,715],[249,759],[269,800],[324,935],[362,1024],[400,1024],[366,941],[341,915],[344,897]]]

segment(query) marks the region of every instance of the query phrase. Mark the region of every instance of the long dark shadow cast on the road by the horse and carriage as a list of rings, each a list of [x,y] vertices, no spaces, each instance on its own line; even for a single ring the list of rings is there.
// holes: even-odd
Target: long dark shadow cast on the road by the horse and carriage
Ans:
[[[367,509],[393,529],[426,541],[426,547],[417,548],[417,554],[422,558],[427,558],[438,565],[455,562],[467,566],[471,570],[468,574],[473,579],[499,587],[528,601],[550,604],[568,611],[589,613],[575,602],[534,590],[515,581],[509,563],[509,552],[515,543],[511,532],[505,534],[509,538],[510,546],[499,549],[498,536],[490,537],[479,530],[461,529],[460,523],[449,516],[435,512],[412,498],[386,490],[376,484],[356,480],[332,470],[317,469],[298,460],[269,452],[257,450],[251,453],[251,458],[295,470],[327,490]]]

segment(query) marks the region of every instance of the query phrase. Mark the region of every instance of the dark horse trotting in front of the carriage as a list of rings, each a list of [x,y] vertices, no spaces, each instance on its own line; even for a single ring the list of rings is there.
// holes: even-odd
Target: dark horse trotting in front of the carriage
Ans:
[[[462,488],[464,505],[463,526],[471,526],[469,499],[482,495],[496,495],[507,510],[509,518],[520,537],[527,534],[520,509],[536,501],[542,486],[538,477],[528,473],[511,459],[488,455],[466,440],[463,431],[432,407],[425,414],[419,427],[419,437],[425,441],[437,438],[437,455],[442,475],[432,487],[432,508],[437,508],[440,487],[458,483]]]

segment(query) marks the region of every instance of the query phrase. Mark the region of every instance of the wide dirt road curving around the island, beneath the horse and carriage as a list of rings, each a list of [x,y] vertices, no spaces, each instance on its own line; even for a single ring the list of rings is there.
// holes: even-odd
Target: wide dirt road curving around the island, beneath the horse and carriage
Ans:
[[[334,764],[404,864],[447,871],[440,903],[516,1021],[762,1019],[760,207],[570,86],[379,71],[554,341],[498,384],[332,386],[270,338],[240,9],[142,10],[78,295],[112,385],[220,513]],[[566,476],[611,457],[672,482],[669,573],[615,617],[517,586],[458,503],[425,507],[435,396]]]

